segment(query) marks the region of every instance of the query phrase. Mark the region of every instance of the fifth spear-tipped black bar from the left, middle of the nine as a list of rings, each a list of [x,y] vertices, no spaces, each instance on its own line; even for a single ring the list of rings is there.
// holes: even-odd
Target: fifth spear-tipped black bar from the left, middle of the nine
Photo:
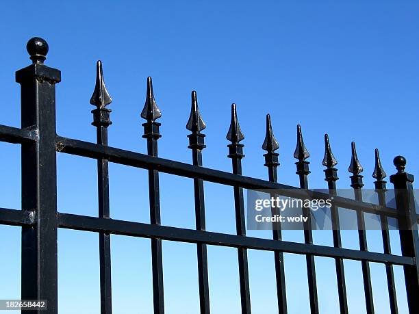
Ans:
[[[279,144],[277,139],[275,138],[273,131],[272,131],[272,124],[270,122],[270,115],[266,115],[266,135],[264,144],[262,148],[267,151],[264,154],[265,157],[265,164],[264,166],[268,167],[268,176],[269,181],[271,182],[278,182],[278,174],[277,174],[277,167],[279,166],[278,162],[278,153],[275,151],[279,148]],[[272,215],[277,214],[276,208],[272,208]],[[272,224],[272,235],[275,241],[282,239],[281,234],[281,225],[278,223],[277,227],[273,226]],[[278,311],[281,314],[288,313],[287,310],[287,296],[285,291],[285,269],[283,266],[283,252],[275,251],[275,276],[277,279],[277,297],[278,297]]]

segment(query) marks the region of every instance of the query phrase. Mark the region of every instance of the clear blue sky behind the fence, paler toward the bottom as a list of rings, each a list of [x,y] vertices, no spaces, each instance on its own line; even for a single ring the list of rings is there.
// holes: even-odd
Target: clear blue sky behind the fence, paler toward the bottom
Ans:
[[[366,187],[373,187],[374,148],[388,174],[395,171],[394,156],[404,155],[407,170],[418,176],[418,14],[419,3],[409,0],[8,1],[0,12],[0,124],[20,126],[14,71],[29,64],[27,40],[40,36],[49,42],[46,64],[62,70],[59,135],[95,140],[89,100],[100,59],[113,99],[111,146],[146,152],[140,112],[151,76],[162,111],[162,157],[191,162],[185,125],[196,90],[207,124],[204,166],[231,171],[225,135],[234,102],[248,176],[267,178],[266,113],[280,144],[281,183],[298,184],[292,157],[298,123],[311,154],[311,187],[326,186],[325,133],[338,159],[338,187],[350,184],[351,141]],[[0,207],[20,209],[20,148],[1,143],[0,149]],[[59,211],[97,215],[95,175],[94,160],[58,154]],[[161,189],[163,224],[194,228],[192,181],[162,174]],[[232,193],[205,184],[208,230],[234,233]],[[147,195],[147,172],[110,166],[112,218],[149,222]],[[377,233],[368,235],[372,250],[381,251]],[[60,313],[99,313],[97,235],[60,230],[58,236]],[[302,232],[284,238],[302,241]],[[330,232],[316,234],[316,243],[330,245]],[[0,298],[20,298],[19,245],[19,228],[0,226]],[[344,233],[344,246],[357,248],[357,235]],[[166,313],[199,313],[195,246],[165,241],[163,250]],[[240,313],[236,250],[210,247],[209,265],[212,313]],[[338,313],[333,265],[316,259],[321,313]],[[345,267],[351,313],[365,313],[361,264],[346,261]],[[249,268],[253,313],[276,313],[272,253],[249,252]],[[389,313],[385,269],[371,268],[376,313]],[[290,313],[308,313],[304,257],[286,254],[285,270]],[[401,268],[395,272],[399,313],[406,313]],[[152,313],[149,240],[112,237],[112,280],[115,314]]]

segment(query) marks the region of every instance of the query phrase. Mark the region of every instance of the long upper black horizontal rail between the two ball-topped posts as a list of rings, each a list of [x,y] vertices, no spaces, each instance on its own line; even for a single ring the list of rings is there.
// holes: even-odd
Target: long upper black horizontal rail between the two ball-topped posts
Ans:
[[[141,153],[134,153],[132,151],[125,151],[120,148],[111,146],[103,146],[90,142],[80,140],[73,140],[70,138],[63,138],[58,136],[56,139],[57,151],[83,157],[94,159],[105,158],[114,163],[120,163],[125,166],[133,166],[144,169],[154,169],[168,174],[175,174],[179,176],[186,176],[192,179],[203,179],[214,183],[225,185],[237,185],[245,189],[281,189],[283,196],[292,198],[307,198],[307,194],[312,198],[328,199],[329,194],[307,191],[299,187],[291,185],[284,185],[281,183],[273,183],[261,179],[251,178],[249,176],[242,176],[232,174],[230,172],[223,172],[220,170],[213,170],[201,166],[193,166],[189,163],[182,163],[170,159],[160,157],[151,157]],[[380,205],[352,200],[342,196],[333,196],[333,204],[337,207],[346,209],[360,210],[367,213],[382,213],[389,217],[398,218],[396,211],[390,207],[383,207]]]

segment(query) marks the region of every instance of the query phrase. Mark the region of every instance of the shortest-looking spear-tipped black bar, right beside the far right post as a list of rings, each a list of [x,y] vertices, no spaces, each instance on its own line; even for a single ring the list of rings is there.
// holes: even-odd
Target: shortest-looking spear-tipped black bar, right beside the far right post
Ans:
[[[385,192],[387,188],[385,187],[386,181],[383,179],[387,176],[383,167],[381,166],[381,160],[379,151],[375,149],[375,168],[372,173],[372,177],[377,179],[374,182],[375,192],[378,196],[379,205],[386,206],[387,202],[385,201]],[[388,232],[388,218],[385,214],[380,215],[381,222],[381,235],[383,237],[383,252],[385,254],[392,254],[392,248],[390,245],[390,233]],[[396,286],[394,284],[394,271],[393,265],[390,263],[385,263],[385,274],[387,276],[387,287],[388,287],[388,298],[390,300],[390,311],[392,314],[398,314],[397,309],[397,298],[396,298]]]

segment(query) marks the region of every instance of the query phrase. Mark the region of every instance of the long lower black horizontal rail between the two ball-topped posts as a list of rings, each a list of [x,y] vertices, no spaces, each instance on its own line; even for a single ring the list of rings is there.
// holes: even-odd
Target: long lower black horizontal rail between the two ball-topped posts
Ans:
[[[357,261],[391,263],[395,265],[415,265],[415,260],[411,257],[402,257],[392,254],[302,244],[289,241],[275,241],[255,237],[244,237],[242,235],[229,235],[210,231],[144,224],[140,222],[127,222],[123,220],[113,220],[111,218],[74,215],[71,213],[58,213],[58,226],[80,231],[105,232],[114,235],[129,235],[133,237],[157,237],[170,241],[205,243],[214,246],[281,251],[295,254],[312,254],[319,257],[353,259]]]

